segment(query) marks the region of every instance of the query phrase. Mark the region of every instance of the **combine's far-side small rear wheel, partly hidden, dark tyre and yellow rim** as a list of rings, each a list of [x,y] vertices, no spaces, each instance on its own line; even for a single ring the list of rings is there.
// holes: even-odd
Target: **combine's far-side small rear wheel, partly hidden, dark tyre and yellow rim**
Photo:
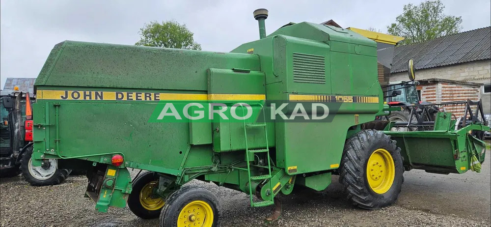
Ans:
[[[128,197],[131,212],[142,219],[158,218],[165,199],[156,195],[154,189],[159,187],[159,176],[152,171],[144,172],[133,180],[133,190]]]

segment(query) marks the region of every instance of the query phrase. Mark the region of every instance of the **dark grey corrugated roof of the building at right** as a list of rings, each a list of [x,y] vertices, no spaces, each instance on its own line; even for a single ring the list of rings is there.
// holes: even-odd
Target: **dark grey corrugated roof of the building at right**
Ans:
[[[394,49],[391,73],[408,71],[408,59],[415,69],[491,58],[491,27],[443,36],[430,41],[397,46]]]

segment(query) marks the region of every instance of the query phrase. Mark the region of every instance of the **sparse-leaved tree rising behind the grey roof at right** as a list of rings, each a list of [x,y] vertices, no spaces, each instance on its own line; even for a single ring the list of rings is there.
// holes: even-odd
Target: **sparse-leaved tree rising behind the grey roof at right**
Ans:
[[[462,29],[462,17],[444,15],[444,8],[440,0],[427,0],[419,5],[404,5],[403,13],[397,16],[396,23],[387,26],[387,32],[404,37],[404,44],[458,33]]]

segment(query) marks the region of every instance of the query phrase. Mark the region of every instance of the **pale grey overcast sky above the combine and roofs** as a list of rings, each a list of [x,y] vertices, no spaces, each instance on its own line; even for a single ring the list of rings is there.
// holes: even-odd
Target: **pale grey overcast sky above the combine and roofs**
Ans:
[[[370,3],[367,3],[370,2]],[[420,0],[1,0],[0,76],[37,77],[63,40],[133,45],[149,21],[175,20],[194,32],[205,51],[228,52],[258,39],[252,12],[267,8],[267,34],[289,22],[333,19],[343,28],[379,28],[395,21],[404,4]],[[444,13],[462,16],[463,31],[490,26],[491,0],[442,0]]]

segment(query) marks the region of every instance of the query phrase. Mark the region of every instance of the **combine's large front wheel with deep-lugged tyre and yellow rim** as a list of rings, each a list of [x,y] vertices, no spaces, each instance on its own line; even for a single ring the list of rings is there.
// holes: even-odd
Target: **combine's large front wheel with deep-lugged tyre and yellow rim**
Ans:
[[[403,183],[401,148],[389,136],[363,130],[344,146],[339,181],[355,205],[379,209],[392,204]]]

